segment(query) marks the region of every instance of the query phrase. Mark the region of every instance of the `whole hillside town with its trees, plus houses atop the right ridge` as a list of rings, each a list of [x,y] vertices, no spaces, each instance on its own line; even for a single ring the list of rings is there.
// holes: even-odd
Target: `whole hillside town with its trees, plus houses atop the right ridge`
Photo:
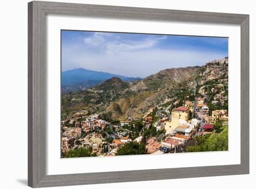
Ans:
[[[228,79],[218,78],[197,85],[182,99],[149,108],[141,117],[112,120],[93,113],[62,119],[61,153],[101,157],[228,150],[228,118]]]

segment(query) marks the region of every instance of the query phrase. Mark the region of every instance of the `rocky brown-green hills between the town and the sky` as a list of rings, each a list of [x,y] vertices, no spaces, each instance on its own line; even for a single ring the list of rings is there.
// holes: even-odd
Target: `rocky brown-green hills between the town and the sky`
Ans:
[[[228,59],[209,61],[199,67],[171,68],[133,82],[113,77],[93,88],[62,95],[62,113],[112,113],[113,119],[142,117],[148,109],[190,96],[209,80],[228,77]]]

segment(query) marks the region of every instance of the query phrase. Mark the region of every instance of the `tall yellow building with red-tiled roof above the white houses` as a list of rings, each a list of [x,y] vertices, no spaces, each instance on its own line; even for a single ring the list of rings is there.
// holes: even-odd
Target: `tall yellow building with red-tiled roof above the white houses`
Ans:
[[[177,107],[173,109],[171,113],[172,121],[167,121],[165,125],[166,133],[171,130],[175,130],[179,126],[179,119],[189,120],[189,108],[188,107]]]

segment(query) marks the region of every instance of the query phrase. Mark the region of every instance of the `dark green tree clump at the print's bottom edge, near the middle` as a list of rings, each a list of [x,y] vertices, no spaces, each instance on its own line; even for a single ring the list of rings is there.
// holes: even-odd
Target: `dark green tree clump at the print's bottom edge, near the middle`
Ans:
[[[146,154],[146,145],[137,142],[129,142],[117,150],[116,156]]]

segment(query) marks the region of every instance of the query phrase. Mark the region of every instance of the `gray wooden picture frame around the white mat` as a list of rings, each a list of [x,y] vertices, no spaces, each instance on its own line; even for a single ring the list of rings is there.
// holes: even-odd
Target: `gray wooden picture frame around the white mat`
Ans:
[[[61,14],[241,26],[241,164],[46,175],[46,15]],[[249,174],[249,15],[59,2],[28,3],[28,186],[119,183]]]

